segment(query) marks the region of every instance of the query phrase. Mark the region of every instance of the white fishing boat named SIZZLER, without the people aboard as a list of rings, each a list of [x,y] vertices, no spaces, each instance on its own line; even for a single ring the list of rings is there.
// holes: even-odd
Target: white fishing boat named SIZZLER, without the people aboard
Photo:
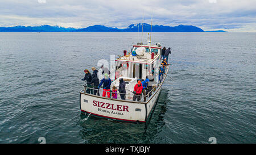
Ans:
[[[86,93],[84,87],[80,91],[80,110],[83,114],[107,118],[111,120],[120,120],[125,122],[146,122],[148,116],[155,106],[162,85],[167,77],[170,66],[166,66],[163,76],[159,76],[159,66],[161,66],[161,49],[160,43],[151,45],[151,40],[147,44],[136,44],[132,47],[132,52],[123,52],[122,56],[115,59],[115,79],[111,83],[111,87],[119,86],[119,79],[123,78],[126,82],[125,99],[121,99],[117,92],[117,98],[102,97],[104,90],[100,88],[100,96]],[[113,74],[113,73],[111,73]],[[143,81],[147,76],[151,76],[151,90],[141,97],[141,100],[133,100],[134,86],[138,80]],[[101,80],[101,79],[100,79]],[[112,93],[112,91],[110,91]],[[144,100],[146,98],[146,100]]]

